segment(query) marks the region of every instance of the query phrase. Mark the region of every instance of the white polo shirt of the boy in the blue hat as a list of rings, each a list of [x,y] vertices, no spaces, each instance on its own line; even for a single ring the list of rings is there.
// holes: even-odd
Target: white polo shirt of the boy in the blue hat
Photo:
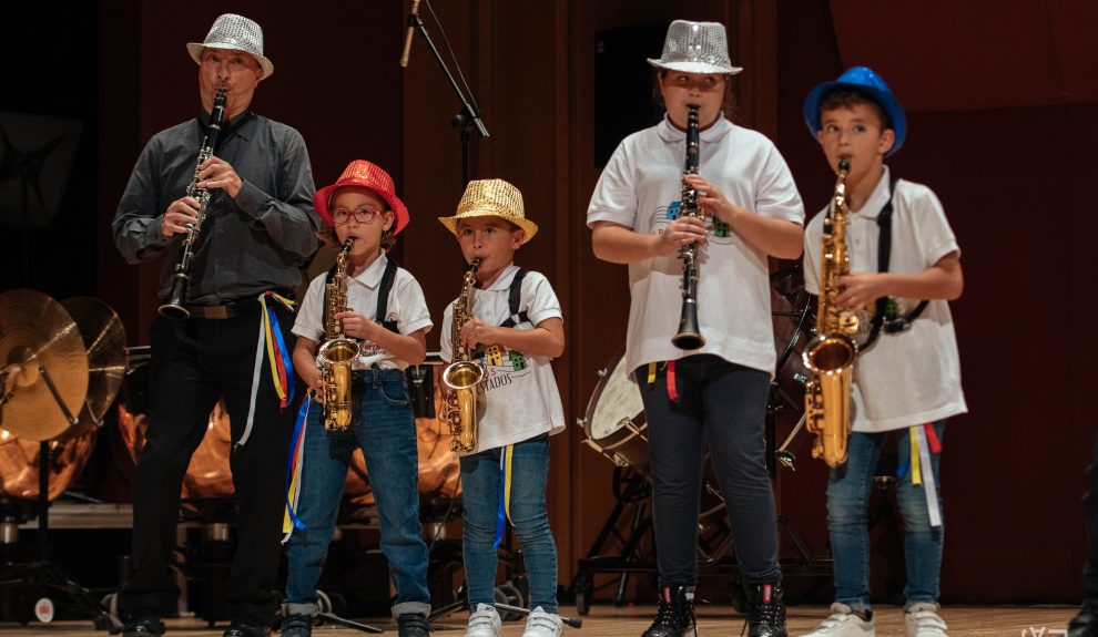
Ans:
[[[877,217],[888,201],[888,179],[886,166],[865,205],[848,217],[851,271],[877,271]],[[960,254],[942,204],[928,187],[899,179],[892,202],[888,271],[921,273],[949,253]],[[821,212],[804,233],[804,287],[814,295],[820,294],[823,219]],[[901,316],[907,316],[919,299],[896,299],[896,304]],[[861,311],[858,318],[855,340],[862,345],[868,338],[873,312]],[[949,304],[929,301],[907,331],[886,333],[882,329],[876,342],[854,361],[851,394],[854,431],[892,431],[968,411]]]

